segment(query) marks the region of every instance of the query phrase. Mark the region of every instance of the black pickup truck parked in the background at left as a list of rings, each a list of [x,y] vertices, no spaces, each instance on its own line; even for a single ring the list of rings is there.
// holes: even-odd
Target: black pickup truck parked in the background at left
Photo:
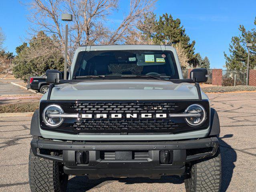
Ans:
[[[67,75],[69,75],[69,72],[67,73]],[[62,76],[64,76],[64,72],[62,72]],[[37,90],[38,92],[45,94],[49,88],[49,84],[46,83],[45,74],[41,76],[29,77],[27,88]]]

